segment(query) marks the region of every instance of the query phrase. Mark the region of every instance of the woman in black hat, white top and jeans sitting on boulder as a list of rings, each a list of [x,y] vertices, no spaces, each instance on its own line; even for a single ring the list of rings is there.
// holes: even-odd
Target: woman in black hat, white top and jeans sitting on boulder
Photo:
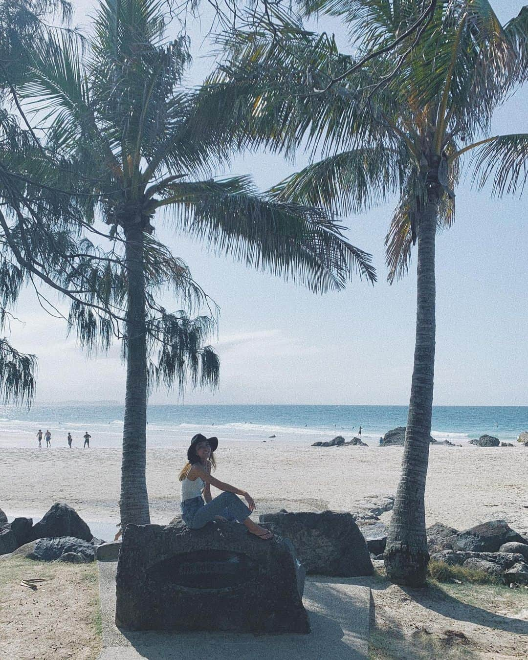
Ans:
[[[206,438],[197,433],[187,449],[187,464],[180,472],[182,482],[182,519],[187,527],[199,529],[212,520],[237,520],[246,525],[248,533],[269,541],[273,534],[253,523],[249,515],[255,510],[253,498],[245,491],[211,477],[216,469],[218,438]],[[224,492],[213,499],[211,486]],[[202,496],[203,495],[203,496]],[[248,506],[237,495],[242,495]],[[205,501],[204,501],[205,500]]]

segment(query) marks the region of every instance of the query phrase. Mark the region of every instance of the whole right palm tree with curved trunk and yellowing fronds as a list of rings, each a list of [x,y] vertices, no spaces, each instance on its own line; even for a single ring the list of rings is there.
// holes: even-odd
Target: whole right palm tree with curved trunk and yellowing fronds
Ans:
[[[210,112],[230,96],[247,141],[286,153],[300,145],[322,152],[322,160],[277,185],[274,199],[349,214],[399,196],[385,240],[388,279],[405,274],[417,242],[416,343],[385,566],[393,581],[416,586],[426,579],[429,559],[424,492],[436,233],[454,220],[463,167],[479,186],[493,176],[497,195],[521,191],[526,181],[528,134],[492,135],[490,125],[495,108],[526,75],[527,16],[521,12],[503,28],[487,0],[306,5],[309,14],[338,16],[348,25],[354,56],[300,23],[261,27],[226,37],[226,59],[203,94]],[[418,17],[421,27],[409,32]]]

